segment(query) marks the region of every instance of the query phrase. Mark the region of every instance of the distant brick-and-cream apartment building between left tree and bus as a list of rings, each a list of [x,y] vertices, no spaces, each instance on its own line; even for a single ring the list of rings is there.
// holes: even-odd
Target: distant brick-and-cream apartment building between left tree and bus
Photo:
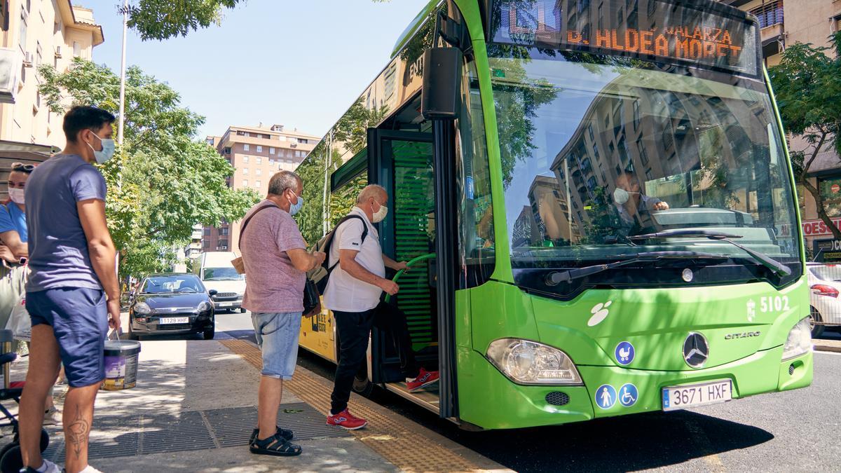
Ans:
[[[233,189],[254,189],[265,196],[268,181],[278,171],[294,171],[320,141],[319,136],[286,130],[283,125],[264,127],[230,126],[222,136],[208,136],[236,171],[228,185]],[[202,251],[239,252],[240,222],[204,227]]]

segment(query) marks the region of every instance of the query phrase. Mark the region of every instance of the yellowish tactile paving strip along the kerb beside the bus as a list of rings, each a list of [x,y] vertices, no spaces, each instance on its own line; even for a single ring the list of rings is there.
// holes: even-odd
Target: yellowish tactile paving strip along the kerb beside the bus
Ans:
[[[257,369],[262,368],[259,348],[251,343],[243,340],[221,340],[220,343]],[[330,383],[308,375],[303,369],[296,370],[293,379],[283,385],[320,412],[327,412],[330,408]],[[400,470],[417,471],[419,465],[424,471],[484,470],[482,465],[476,465],[431,438],[413,432],[414,423],[400,422],[400,417],[378,412],[354,397],[349,405],[354,415],[368,420],[368,427],[354,430],[352,434]]]

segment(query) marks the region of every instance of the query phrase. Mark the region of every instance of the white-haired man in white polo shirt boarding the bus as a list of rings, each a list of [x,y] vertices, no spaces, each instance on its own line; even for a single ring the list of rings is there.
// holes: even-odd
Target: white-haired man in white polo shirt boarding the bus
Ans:
[[[399,286],[385,279],[385,268],[406,268],[383,254],[379,234],[373,223],[383,221],[389,209],[389,195],[381,186],[372,184],[362,189],[357,205],[333,235],[329,265],[333,267],[324,293],[325,306],[333,311],[339,333],[339,365],[331,395],[331,412],[327,423],[354,430],[368,422],[347,411],[353,378],[368,351],[368,334],[377,313],[383,291],[395,295]],[[364,229],[368,227],[368,232]],[[363,238],[363,234],[364,238]]]

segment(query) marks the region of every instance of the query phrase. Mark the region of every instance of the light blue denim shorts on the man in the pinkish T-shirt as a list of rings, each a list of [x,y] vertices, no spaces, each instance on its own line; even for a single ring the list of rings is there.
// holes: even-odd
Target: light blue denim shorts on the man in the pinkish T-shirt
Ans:
[[[251,323],[263,358],[261,375],[291,380],[298,362],[301,312],[252,312]]]

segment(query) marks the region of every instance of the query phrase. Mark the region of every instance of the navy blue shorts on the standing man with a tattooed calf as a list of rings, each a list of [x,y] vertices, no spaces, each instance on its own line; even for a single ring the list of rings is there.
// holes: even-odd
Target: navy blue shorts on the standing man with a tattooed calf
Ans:
[[[102,290],[57,288],[26,293],[32,327],[53,328],[61,363],[71,387],[105,379],[103,349],[108,335],[108,306]]]

